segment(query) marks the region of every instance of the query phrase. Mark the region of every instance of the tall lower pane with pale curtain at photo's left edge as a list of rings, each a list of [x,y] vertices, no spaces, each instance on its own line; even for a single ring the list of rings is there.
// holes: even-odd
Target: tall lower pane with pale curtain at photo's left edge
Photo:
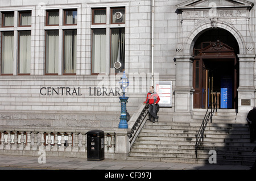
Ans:
[[[13,75],[14,32],[2,32],[1,74]]]

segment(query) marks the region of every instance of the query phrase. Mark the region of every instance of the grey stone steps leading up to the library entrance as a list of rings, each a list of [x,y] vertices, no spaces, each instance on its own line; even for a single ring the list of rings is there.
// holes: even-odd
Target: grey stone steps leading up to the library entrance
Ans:
[[[218,164],[253,165],[256,153],[251,150],[256,142],[250,143],[247,124],[236,123],[236,112],[218,110],[212,123],[208,123],[195,155],[196,134],[205,110],[195,110],[189,123],[147,121],[131,148],[130,160],[166,161],[179,163],[209,163],[209,150],[217,153]]]

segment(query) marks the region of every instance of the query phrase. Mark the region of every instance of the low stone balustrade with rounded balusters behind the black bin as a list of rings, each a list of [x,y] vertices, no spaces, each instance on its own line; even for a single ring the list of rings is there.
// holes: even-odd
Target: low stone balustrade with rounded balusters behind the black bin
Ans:
[[[114,158],[115,132],[104,132],[105,158]],[[0,153],[51,157],[87,157],[86,132],[16,131],[0,129]]]

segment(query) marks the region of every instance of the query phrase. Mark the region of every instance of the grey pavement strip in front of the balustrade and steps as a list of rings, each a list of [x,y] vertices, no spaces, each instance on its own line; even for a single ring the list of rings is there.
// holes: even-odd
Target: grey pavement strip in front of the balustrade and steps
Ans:
[[[155,161],[130,161],[103,159],[88,161],[86,158],[67,157],[27,157],[0,155],[0,170],[40,169],[40,170],[250,170],[245,165],[217,165],[199,163],[176,163]]]

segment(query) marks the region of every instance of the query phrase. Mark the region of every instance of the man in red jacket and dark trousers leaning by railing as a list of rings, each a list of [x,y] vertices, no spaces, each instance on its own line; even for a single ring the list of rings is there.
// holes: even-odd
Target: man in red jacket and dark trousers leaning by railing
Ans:
[[[147,93],[147,99],[144,104],[149,104],[148,112],[153,117],[153,123],[158,121],[158,116],[156,115],[156,104],[159,102],[160,98],[158,93],[154,91],[154,86],[150,87],[150,91]]]

